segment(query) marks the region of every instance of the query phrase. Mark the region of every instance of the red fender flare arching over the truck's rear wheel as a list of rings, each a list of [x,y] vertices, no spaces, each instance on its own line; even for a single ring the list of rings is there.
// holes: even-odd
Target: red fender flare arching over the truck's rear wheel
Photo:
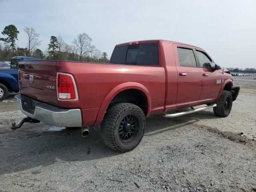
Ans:
[[[96,122],[94,124],[94,126],[98,126],[102,123],[102,120],[104,118],[105,112],[110,104],[110,102],[112,101],[112,99],[121,91],[123,90],[127,90],[127,89],[137,89],[142,91],[146,97],[147,97],[147,102],[148,102],[148,112],[147,112],[147,116],[150,114],[151,111],[151,98],[150,98],[150,94],[148,92],[148,89],[140,84],[140,83],[136,83],[136,82],[126,82],[126,83],[122,83],[118,86],[116,86],[115,88],[113,88],[108,95],[106,96],[106,98],[104,99],[104,101],[102,102],[101,106],[100,106],[100,110],[98,112],[98,116],[96,119]]]

